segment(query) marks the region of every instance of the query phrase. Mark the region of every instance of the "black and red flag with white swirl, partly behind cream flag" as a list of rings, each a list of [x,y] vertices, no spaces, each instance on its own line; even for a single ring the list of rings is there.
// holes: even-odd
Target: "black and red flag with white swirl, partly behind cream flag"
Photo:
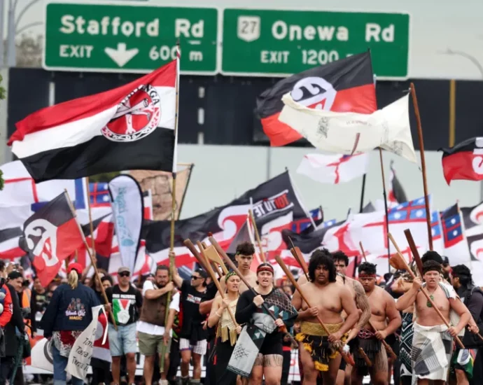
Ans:
[[[284,146],[302,135],[279,121],[281,98],[290,92],[310,109],[373,113],[377,110],[370,52],[352,55],[280,80],[257,99],[257,113],[271,146]]]

